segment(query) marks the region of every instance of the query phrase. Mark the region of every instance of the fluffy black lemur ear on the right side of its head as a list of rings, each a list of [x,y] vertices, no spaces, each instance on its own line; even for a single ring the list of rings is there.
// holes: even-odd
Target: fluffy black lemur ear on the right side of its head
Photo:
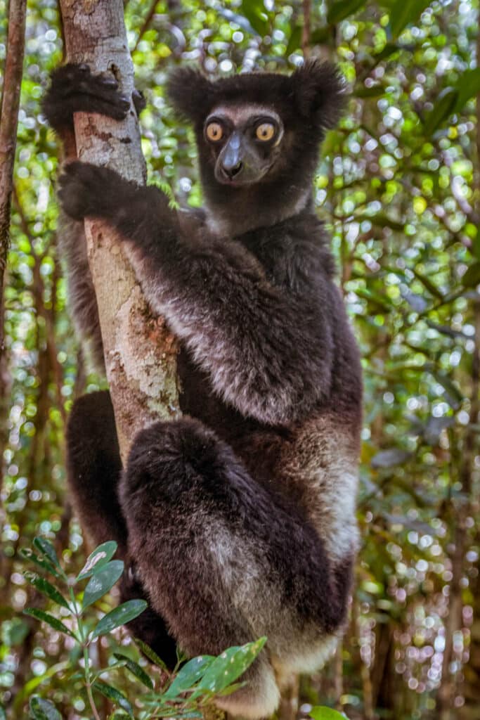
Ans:
[[[345,106],[345,78],[338,68],[307,60],[291,75],[296,109],[325,130],[335,127]]]

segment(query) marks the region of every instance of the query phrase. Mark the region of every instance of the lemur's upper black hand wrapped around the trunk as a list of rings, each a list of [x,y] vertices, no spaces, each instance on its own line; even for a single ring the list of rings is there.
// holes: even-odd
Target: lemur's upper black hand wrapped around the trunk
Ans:
[[[145,99],[137,90],[132,102],[137,113],[145,107]],[[73,127],[74,112],[98,112],[124,120],[130,105],[130,98],[119,91],[112,73],[94,74],[88,65],[68,63],[53,71],[42,110],[51,127],[61,131]]]

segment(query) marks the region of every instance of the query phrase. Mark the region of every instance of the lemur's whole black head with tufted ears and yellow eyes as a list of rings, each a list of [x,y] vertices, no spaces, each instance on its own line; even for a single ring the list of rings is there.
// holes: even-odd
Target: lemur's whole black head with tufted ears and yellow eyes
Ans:
[[[316,60],[291,76],[245,73],[212,82],[191,68],[171,75],[168,96],[194,125],[207,207],[219,226],[244,232],[307,205],[343,89],[335,66]]]

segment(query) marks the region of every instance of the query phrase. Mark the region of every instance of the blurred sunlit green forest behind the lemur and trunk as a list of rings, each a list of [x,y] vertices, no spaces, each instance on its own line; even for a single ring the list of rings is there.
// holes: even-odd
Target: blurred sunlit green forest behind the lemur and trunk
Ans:
[[[363,356],[362,542],[345,638],[302,678],[299,716],[320,703],[352,720],[478,720],[479,2],[126,0],[125,13],[150,180],[183,203],[201,192],[191,131],[163,97],[174,66],[219,77],[291,71],[312,55],[348,80],[314,197]],[[5,38],[0,0],[0,68]],[[60,153],[39,105],[63,59],[54,0],[30,0],[25,52],[0,369],[0,701],[23,719],[29,694],[48,688],[73,720],[84,703],[61,679],[71,651],[22,616],[45,603],[18,554],[44,534],[68,570],[83,564],[63,435],[73,398],[100,387],[73,336],[56,249]]]

